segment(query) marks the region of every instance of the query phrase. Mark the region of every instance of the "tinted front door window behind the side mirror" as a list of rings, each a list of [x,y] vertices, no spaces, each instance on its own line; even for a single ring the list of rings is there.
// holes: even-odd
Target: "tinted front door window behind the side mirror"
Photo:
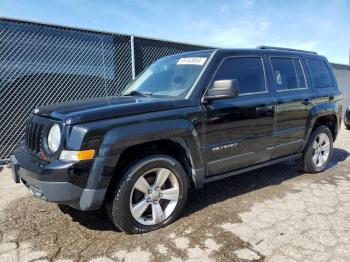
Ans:
[[[237,57],[226,59],[220,66],[214,80],[237,79],[239,93],[265,91],[265,77],[260,57]]]

